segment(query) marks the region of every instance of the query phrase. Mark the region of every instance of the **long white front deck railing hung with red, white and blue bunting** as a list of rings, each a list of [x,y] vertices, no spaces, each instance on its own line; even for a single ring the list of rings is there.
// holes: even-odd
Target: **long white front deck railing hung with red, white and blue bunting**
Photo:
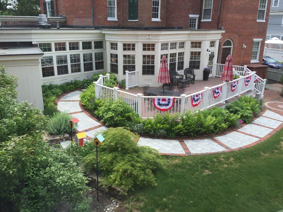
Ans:
[[[241,71],[239,71],[241,72]],[[106,99],[111,100],[121,99],[126,102],[136,113],[138,113],[141,118],[153,118],[156,114],[163,114],[169,112],[170,114],[180,113],[181,115],[191,111],[192,113],[196,111],[206,110],[210,107],[213,107],[219,103],[225,103],[226,100],[229,100],[235,96],[240,96],[242,93],[247,92],[248,90],[254,90],[253,79],[256,72],[246,72],[246,75],[240,75],[238,79],[235,79],[231,82],[225,82],[220,85],[213,86],[211,88],[205,87],[204,90],[199,92],[177,97],[170,96],[143,96],[142,94],[130,94],[125,91],[118,90],[118,88],[109,88],[104,85],[101,85],[101,80],[98,79],[95,83],[95,95],[97,99]],[[245,86],[245,78],[251,76],[251,81]],[[100,82],[100,83],[99,83]],[[237,83],[237,87],[234,91],[231,90],[231,84]],[[263,84],[262,84],[263,85]],[[214,98],[213,89],[216,87],[222,86],[222,92],[218,98]],[[264,88],[264,86],[263,86]],[[202,93],[202,100],[199,105],[196,107],[192,106],[192,96],[195,94]],[[175,98],[174,106],[166,112],[160,112],[153,105],[153,98]]]

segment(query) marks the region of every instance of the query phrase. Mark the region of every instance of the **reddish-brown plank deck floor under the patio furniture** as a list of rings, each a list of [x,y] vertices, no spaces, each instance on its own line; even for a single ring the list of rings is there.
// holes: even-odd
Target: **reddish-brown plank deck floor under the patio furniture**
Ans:
[[[213,87],[216,85],[220,85],[223,82],[220,80],[220,77],[211,77],[208,79],[208,81],[203,81],[203,80],[195,80],[195,83],[192,84],[190,82],[190,86],[188,87],[188,85],[185,86],[186,91],[185,94],[193,94],[195,92],[204,90],[204,87]],[[161,88],[160,87],[150,87],[150,88]],[[121,89],[122,90],[122,89]],[[134,87],[134,88],[129,88],[129,90],[124,90],[125,92],[131,93],[131,94],[142,94],[142,87]],[[176,88],[174,91],[177,91],[177,84],[176,84]]]

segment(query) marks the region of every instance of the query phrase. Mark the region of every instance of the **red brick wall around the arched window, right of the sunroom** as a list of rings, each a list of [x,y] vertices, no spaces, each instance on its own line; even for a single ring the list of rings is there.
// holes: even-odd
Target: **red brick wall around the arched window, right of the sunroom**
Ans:
[[[215,1],[213,1],[214,3]],[[220,42],[218,62],[221,59],[222,44],[226,39],[233,41],[233,64],[240,65],[243,44],[242,65],[250,63],[254,38],[262,38],[259,61],[262,62],[264,41],[269,18],[270,0],[267,2],[265,22],[257,22],[259,1],[222,1],[220,24],[226,30]],[[248,7],[247,7],[248,5]]]

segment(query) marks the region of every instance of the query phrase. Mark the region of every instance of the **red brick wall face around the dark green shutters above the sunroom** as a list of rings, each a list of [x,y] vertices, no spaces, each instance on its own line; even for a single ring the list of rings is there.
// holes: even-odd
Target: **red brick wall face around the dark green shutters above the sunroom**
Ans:
[[[167,0],[168,1],[168,0]],[[138,21],[128,21],[128,0],[121,0],[122,3],[122,26],[165,26],[166,18],[166,0],[160,0],[160,20],[151,21],[152,18],[152,0],[138,1]]]

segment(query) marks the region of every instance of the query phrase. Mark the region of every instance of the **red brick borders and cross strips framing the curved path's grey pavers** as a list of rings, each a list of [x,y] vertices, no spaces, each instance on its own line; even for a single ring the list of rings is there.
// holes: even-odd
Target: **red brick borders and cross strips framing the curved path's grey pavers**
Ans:
[[[82,91],[81,89],[78,89],[78,90],[79,90],[79,91]],[[74,91],[76,91],[76,90],[68,91],[67,93],[62,94],[61,96],[59,96],[59,97],[57,98],[57,100],[55,101],[55,105],[58,104],[58,102],[60,101],[60,99],[61,99],[63,96],[65,96],[65,95],[67,95],[67,94],[69,94],[69,93],[71,93],[71,92],[74,92]],[[78,101],[78,100],[62,100],[62,101]],[[97,121],[100,125],[95,126],[95,127],[92,127],[92,128],[90,128],[90,129],[83,130],[83,131],[75,130],[76,133],[79,133],[79,132],[87,132],[87,131],[90,131],[90,130],[93,130],[93,129],[97,129],[97,128],[101,127],[101,126],[105,126],[105,124],[104,124],[103,122],[100,122],[100,120],[98,120],[98,119],[93,115],[93,113],[92,113],[91,111],[89,111],[88,109],[86,109],[86,108],[84,107],[84,105],[83,105],[81,102],[79,102],[79,105],[80,105],[80,108],[82,109],[82,111],[80,111],[80,112],[75,112],[75,113],[84,112],[87,116],[89,116],[89,117],[92,118],[93,120]],[[272,109],[265,107],[257,116],[255,116],[255,117],[252,119],[252,121],[254,121],[254,120],[256,120],[258,117],[262,116],[262,115],[265,113],[265,111],[267,111],[267,109],[269,109],[269,110],[272,111]],[[283,116],[283,111],[276,111],[276,113]],[[74,113],[72,113],[72,114],[74,114]],[[266,117],[266,116],[263,116],[263,117]],[[270,118],[270,117],[267,117],[267,118]],[[271,119],[273,119],[273,118],[271,118]],[[276,119],[273,119],[273,120],[276,120]],[[258,126],[262,126],[262,125],[260,125],[260,124],[255,124],[255,123],[253,123],[253,124],[254,124],[254,125],[258,125]],[[175,138],[172,139],[172,140],[178,140],[178,141],[179,141],[179,143],[181,144],[182,148],[183,148],[184,151],[185,151],[185,154],[174,154],[174,153],[159,153],[159,154],[160,154],[160,155],[171,155],[171,156],[194,156],[194,155],[211,155],[211,154],[218,154],[218,153],[225,153],[225,152],[235,152],[235,151],[238,151],[238,150],[246,149],[246,148],[248,148],[248,147],[254,146],[254,145],[256,145],[256,144],[259,144],[259,143],[265,141],[266,139],[270,138],[272,135],[274,135],[276,132],[278,132],[278,131],[283,127],[283,123],[280,124],[280,125],[279,125],[278,127],[276,127],[275,129],[270,128],[270,127],[267,127],[267,126],[263,126],[263,127],[272,129],[273,131],[271,131],[270,133],[268,133],[267,135],[265,135],[263,138],[260,138],[260,137],[255,136],[255,135],[250,135],[250,134],[248,134],[248,133],[244,133],[244,132],[242,132],[242,131],[238,131],[238,129],[240,129],[241,127],[244,127],[244,126],[246,126],[246,125],[247,125],[246,123],[243,123],[243,124],[241,124],[239,127],[230,127],[230,128],[228,128],[228,129],[226,129],[224,132],[221,132],[221,133],[219,133],[219,134],[211,133],[211,134],[209,134],[209,135],[201,135],[201,136],[196,136],[196,137],[188,137],[188,136],[175,137]],[[239,148],[231,149],[230,147],[226,146],[226,145],[223,144],[222,142],[220,142],[220,141],[218,141],[218,140],[215,139],[216,137],[220,137],[220,136],[222,136],[222,135],[227,135],[227,134],[229,134],[229,133],[231,133],[231,132],[234,132],[234,131],[235,131],[235,132],[238,132],[238,133],[242,133],[242,134],[244,134],[244,135],[249,135],[249,136],[254,137],[254,138],[257,138],[257,139],[259,139],[259,140],[257,140],[256,142],[253,142],[253,143],[251,143],[251,144],[248,144],[248,145],[246,145],[246,146],[242,146],[242,147],[239,147]],[[142,136],[142,135],[139,135],[139,136],[140,136],[140,137],[143,137],[143,138],[150,138],[150,139],[165,139],[165,138],[166,138],[167,140],[170,140],[168,137]],[[199,139],[211,139],[211,140],[213,140],[214,142],[216,142],[217,144],[219,144],[220,146],[224,147],[224,148],[227,149],[227,150],[225,150],[225,151],[219,151],[219,152],[208,152],[208,153],[191,153],[190,150],[188,149],[188,147],[186,146],[184,140],[199,140]]]

